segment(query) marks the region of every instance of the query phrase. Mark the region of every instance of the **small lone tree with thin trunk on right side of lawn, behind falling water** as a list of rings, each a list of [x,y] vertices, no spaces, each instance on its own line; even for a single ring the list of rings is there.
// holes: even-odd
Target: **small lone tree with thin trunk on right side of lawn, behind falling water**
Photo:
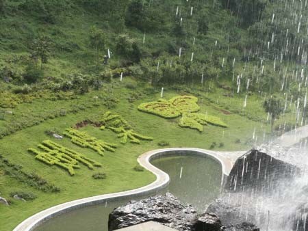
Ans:
[[[264,109],[267,113],[270,113],[270,129],[274,126],[274,121],[279,119],[279,116],[283,112],[282,100],[277,96],[270,96],[270,98],[264,101]]]

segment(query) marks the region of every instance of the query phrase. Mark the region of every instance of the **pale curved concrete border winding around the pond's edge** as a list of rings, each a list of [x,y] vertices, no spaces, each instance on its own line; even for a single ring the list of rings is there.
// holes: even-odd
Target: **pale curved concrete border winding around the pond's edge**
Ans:
[[[103,204],[108,200],[114,200],[116,198],[130,198],[132,195],[147,195],[149,193],[157,192],[164,187],[167,187],[170,181],[168,174],[158,169],[157,167],[151,165],[151,159],[155,159],[158,157],[162,157],[168,155],[170,153],[175,152],[196,152],[198,155],[203,155],[207,157],[212,157],[220,162],[222,166],[222,176],[228,176],[233,164],[235,163],[238,157],[242,156],[246,152],[214,152],[210,150],[203,150],[199,148],[166,148],[153,150],[150,152],[146,152],[142,154],[138,158],[138,162],[142,167],[148,169],[150,172],[155,174],[156,180],[150,185],[146,185],[139,189],[133,189],[129,191],[123,191],[119,193],[110,193],[104,195],[97,195],[90,198],[83,198],[80,200],[74,200],[71,202],[66,202],[64,204],[59,204],[57,206],[53,206],[51,208],[47,208],[46,210],[42,210],[40,213],[36,213],[35,215],[29,217],[22,223],[20,223],[13,231],[31,231],[34,230],[37,226],[44,221],[51,219],[61,213],[69,212],[70,210],[74,210],[76,208],[81,208],[84,206],[90,206],[94,204]]]

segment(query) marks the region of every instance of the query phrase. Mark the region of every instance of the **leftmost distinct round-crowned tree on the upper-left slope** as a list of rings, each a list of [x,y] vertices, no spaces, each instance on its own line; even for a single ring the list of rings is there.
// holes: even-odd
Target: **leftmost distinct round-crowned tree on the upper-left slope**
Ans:
[[[31,58],[38,62],[40,59],[40,69],[42,70],[43,64],[47,64],[50,55],[50,42],[47,36],[40,36],[35,39],[32,44]]]

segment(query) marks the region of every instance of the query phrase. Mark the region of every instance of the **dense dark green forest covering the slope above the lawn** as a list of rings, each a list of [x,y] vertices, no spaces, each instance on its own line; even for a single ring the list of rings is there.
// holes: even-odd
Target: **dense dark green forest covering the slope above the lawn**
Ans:
[[[238,94],[304,98],[307,7],[299,0],[1,0],[1,85],[18,94],[83,93],[123,75],[153,86],[228,85]]]

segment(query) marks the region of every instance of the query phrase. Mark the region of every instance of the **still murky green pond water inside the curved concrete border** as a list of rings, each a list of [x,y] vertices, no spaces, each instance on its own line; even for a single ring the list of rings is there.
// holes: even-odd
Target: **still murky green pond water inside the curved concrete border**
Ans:
[[[169,187],[159,191],[159,194],[168,191],[181,202],[192,204],[199,213],[202,213],[207,204],[217,198],[220,192],[222,171],[220,163],[213,159],[175,156],[156,159],[151,163],[170,176]],[[142,198],[131,198],[138,199]],[[108,215],[114,208],[128,201],[120,200],[79,208],[50,219],[35,231],[107,231]]]

